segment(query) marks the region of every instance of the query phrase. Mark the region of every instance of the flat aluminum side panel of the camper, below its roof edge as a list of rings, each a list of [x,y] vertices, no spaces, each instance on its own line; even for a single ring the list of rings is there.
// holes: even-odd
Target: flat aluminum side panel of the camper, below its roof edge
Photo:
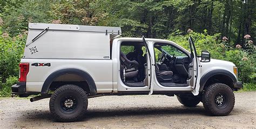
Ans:
[[[30,30],[26,44],[40,32]],[[104,33],[48,30],[25,47],[24,58],[110,59],[109,42]]]

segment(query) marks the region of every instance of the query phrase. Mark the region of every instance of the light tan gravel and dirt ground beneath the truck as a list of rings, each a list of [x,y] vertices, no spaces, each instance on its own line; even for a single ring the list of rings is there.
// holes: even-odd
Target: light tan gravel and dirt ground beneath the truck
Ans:
[[[203,104],[185,107],[176,97],[105,96],[89,99],[82,121],[57,123],[49,99],[0,99],[0,128],[256,128],[256,92],[235,93],[229,116],[208,116]]]

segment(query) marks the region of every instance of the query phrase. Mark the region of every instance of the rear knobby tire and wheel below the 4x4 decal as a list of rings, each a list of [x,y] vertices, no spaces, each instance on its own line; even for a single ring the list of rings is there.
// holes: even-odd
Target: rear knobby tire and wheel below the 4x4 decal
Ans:
[[[82,118],[87,110],[86,92],[77,85],[60,86],[50,98],[50,111],[57,121],[71,122]]]

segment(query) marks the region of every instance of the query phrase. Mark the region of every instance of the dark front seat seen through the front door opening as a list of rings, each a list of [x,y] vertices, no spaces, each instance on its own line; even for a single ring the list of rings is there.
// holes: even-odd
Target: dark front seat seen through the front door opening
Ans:
[[[166,64],[156,65],[156,74],[159,82],[173,82],[173,72],[169,71]]]

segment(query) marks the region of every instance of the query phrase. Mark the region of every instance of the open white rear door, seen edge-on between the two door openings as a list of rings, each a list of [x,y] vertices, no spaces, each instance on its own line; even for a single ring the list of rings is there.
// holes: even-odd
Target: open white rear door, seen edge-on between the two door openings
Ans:
[[[143,40],[143,43],[145,44],[146,46],[146,50],[147,50],[147,83],[149,84],[149,89],[150,89],[150,93],[149,94],[152,94],[153,93],[153,85],[151,85],[151,77],[152,77],[152,74],[151,74],[151,62],[152,62],[152,57],[151,57],[151,54],[150,54],[150,50],[149,50],[149,45],[147,44],[146,42],[146,39],[144,36],[142,36],[142,40]]]

